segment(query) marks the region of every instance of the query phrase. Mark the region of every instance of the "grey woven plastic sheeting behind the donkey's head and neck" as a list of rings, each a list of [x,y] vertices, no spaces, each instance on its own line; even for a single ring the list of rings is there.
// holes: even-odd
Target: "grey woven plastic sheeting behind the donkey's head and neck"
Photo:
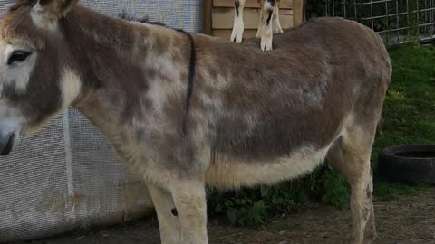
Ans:
[[[0,0],[0,16],[14,1]],[[102,14],[202,30],[202,0],[82,0]],[[108,26],[110,28],[110,26]],[[70,109],[0,158],[0,242],[142,217],[151,208],[140,179],[115,158],[102,133]]]

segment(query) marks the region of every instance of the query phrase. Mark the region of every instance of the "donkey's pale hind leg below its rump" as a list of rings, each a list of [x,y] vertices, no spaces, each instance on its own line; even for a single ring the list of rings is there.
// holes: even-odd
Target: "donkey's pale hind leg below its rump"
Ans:
[[[344,174],[351,187],[355,244],[371,243],[376,238],[370,165],[375,127],[365,125],[346,128],[327,155],[328,161]]]

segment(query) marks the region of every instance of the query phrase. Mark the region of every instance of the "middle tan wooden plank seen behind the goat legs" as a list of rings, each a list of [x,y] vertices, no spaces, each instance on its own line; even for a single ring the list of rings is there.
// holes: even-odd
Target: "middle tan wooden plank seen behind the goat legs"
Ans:
[[[232,29],[234,24],[234,11],[230,8],[213,8],[211,14],[212,29]],[[279,19],[283,29],[293,27],[293,10],[282,9]],[[259,9],[246,9],[244,14],[245,29],[257,29],[260,22]]]

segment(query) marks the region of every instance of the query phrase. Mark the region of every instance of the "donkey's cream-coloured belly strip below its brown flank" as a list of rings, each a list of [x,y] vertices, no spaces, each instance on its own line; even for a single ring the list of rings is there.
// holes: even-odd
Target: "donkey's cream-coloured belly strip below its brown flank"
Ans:
[[[271,184],[308,174],[324,161],[329,150],[304,148],[271,161],[243,161],[217,154],[206,172],[209,186],[228,189],[257,184]]]

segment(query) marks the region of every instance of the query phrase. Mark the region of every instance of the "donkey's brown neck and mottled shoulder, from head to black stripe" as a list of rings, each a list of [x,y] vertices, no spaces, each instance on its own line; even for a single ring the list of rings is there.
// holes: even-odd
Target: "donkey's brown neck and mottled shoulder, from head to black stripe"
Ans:
[[[73,106],[105,134],[156,109],[156,94],[165,96],[188,80],[190,43],[184,33],[83,7],[70,13],[61,27],[82,80],[81,96]]]

